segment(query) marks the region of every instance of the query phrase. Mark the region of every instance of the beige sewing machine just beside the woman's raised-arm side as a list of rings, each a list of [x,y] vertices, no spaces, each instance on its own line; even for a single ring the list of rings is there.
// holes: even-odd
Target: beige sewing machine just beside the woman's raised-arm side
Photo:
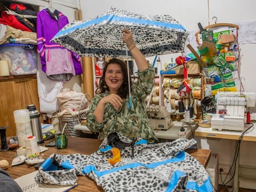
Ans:
[[[164,106],[147,106],[147,114],[150,126],[153,130],[168,130],[173,126],[171,113]]]

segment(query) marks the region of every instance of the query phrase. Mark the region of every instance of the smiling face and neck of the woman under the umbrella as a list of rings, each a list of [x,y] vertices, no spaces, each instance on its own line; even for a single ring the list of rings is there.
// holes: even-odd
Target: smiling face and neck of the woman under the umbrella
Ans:
[[[109,64],[105,73],[105,82],[109,87],[110,93],[117,93],[117,90],[121,87],[124,79],[124,73],[122,72],[119,64]]]

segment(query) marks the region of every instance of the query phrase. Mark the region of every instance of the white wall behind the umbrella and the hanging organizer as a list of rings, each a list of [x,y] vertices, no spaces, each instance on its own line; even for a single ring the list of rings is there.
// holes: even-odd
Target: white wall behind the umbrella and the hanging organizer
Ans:
[[[81,2],[83,20],[92,19],[96,15],[103,14],[111,6],[128,10],[136,14],[168,14],[174,17],[188,31],[197,31],[197,23],[202,23],[203,27],[209,23],[213,24],[217,17],[218,23],[234,23],[256,18],[254,0],[130,0],[130,1],[89,1]],[[209,2],[209,6],[208,6]],[[209,7],[209,8],[208,8]],[[245,91],[256,93],[254,86],[254,52],[256,44],[241,44],[241,78]],[[162,63],[171,61],[171,56],[160,56]],[[174,57],[175,58],[175,57]],[[150,58],[151,59],[151,58]],[[250,112],[256,112],[256,107],[250,108]]]

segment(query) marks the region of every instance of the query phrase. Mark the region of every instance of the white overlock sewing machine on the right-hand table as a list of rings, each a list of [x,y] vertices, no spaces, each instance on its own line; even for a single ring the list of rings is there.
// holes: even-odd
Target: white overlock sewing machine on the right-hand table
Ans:
[[[246,107],[255,106],[255,93],[218,92],[216,114],[211,118],[211,128],[243,131]]]

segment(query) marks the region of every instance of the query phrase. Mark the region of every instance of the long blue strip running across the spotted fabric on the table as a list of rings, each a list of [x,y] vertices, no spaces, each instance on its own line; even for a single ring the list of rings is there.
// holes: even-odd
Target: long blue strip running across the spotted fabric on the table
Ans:
[[[181,161],[184,161],[185,156],[186,156],[185,152],[182,151],[179,154],[177,154],[176,157],[173,157],[173,159],[167,159],[166,161],[155,162],[155,163],[152,163],[152,164],[142,164],[140,162],[134,162],[132,164],[127,164],[127,165],[123,165],[123,166],[120,166],[120,167],[115,167],[113,169],[103,170],[103,171],[96,170],[95,165],[87,165],[83,168],[82,172],[83,173],[95,172],[97,177],[102,177],[103,175],[110,174],[110,173],[113,173],[113,172],[117,172],[119,170],[134,169],[134,168],[137,168],[139,166],[147,167],[148,169],[153,169],[153,168],[158,167],[160,165],[169,164],[169,163],[173,163],[173,162],[181,162]]]

